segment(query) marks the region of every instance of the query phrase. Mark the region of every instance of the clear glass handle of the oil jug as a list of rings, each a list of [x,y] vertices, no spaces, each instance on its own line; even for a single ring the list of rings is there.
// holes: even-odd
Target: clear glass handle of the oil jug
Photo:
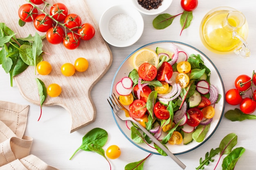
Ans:
[[[234,50],[234,53],[243,58],[249,57],[251,54],[251,50],[250,50],[249,45],[247,44],[246,40],[241,35],[236,33],[236,31],[233,31],[232,36],[233,36],[233,38],[238,38],[243,43],[242,46],[240,46]]]

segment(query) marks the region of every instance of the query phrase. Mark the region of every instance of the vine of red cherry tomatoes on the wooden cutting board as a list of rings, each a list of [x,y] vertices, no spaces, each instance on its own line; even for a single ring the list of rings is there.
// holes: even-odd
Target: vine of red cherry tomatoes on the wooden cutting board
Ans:
[[[80,40],[90,40],[94,37],[94,26],[90,23],[82,24],[80,16],[68,13],[65,4],[53,4],[48,14],[44,11],[48,6],[44,0],[30,0],[30,2],[20,6],[18,10],[20,20],[34,22],[37,31],[46,32],[46,39],[51,44],[63,43],[65,48],[72,50],[79,46]],[[43,10],[36,6],[43,3],[45,3]]]

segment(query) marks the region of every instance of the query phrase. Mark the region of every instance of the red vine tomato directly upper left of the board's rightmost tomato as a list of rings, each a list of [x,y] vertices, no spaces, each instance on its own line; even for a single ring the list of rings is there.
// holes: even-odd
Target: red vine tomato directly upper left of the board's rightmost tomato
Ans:
[[[69,15],[66,16],[64,23],[65,23],[65,26],[67,26],[67,28],[71,29],[72,31],[76,31],[79,29],[79,26],[81,26],[82,21],[79,15],[70,13]]]

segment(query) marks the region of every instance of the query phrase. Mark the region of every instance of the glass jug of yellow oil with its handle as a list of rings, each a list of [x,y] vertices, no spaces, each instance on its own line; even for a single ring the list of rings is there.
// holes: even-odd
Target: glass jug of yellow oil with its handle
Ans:
[[[234,52],[241,57],[249,57],[247,36],[248,24],[245,16],[231,7],[212,9],[204,16],[200,25],[202,43],[215,53]]]

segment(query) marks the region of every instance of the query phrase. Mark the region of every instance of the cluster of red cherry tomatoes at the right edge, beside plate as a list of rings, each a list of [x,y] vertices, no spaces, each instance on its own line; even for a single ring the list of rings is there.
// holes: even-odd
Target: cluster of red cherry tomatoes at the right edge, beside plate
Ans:
[[[252,77],[239,75],[235,80],[235,87],[226,92],[227,103],[239,104],[240,110],[245,114],[253,113],[256,110],[256,73],[253,72]]]

